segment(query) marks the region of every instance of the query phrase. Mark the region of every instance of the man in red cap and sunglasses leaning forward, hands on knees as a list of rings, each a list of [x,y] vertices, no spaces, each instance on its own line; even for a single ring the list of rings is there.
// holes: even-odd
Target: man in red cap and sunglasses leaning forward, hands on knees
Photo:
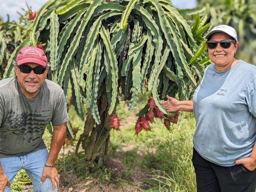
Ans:
[[[55,160],[68,120],[64,92],[46,79],[49,63],[42,49],[23,47],[13,64],[15,77],[0,81],[0,192],[11,190],[20,169],[34,192],[57,191]],[[54,131],[48,152],[42,136],[49,122]]]

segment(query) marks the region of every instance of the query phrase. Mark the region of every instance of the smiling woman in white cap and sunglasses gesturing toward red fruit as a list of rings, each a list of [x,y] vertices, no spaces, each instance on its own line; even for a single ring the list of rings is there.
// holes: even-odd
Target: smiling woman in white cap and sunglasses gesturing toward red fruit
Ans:
[[[212,64],[193,100],[167,96],[167,111],[194,112],[192,162],[198,192],[255,192],[256,66],[234,58],[236,30],[221,25],[207,35]]]

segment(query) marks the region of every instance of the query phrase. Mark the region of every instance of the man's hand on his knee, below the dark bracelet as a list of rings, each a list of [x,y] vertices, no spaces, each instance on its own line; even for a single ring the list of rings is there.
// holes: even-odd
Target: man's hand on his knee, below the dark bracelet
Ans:
[[[56,187],[55,181],[57,183],[57,187],[60,186],[60,178],[58,175],[58,171],[55,167],[44,167],[41,183],[44,183],[47,177],[52,181],[53,189],[55,189]]]

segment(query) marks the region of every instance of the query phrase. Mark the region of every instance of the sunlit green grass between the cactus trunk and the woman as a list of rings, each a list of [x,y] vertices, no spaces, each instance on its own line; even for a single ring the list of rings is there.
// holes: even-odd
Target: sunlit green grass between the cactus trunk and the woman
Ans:
[[[152,170],[155,182],[151,184],[157,187],[157,191],[195,192],[191,161],[195,129],[192,113],[186,113],[180,127],[172,125],[171,130],[167,130],[160,119],[151,125],[152,131],[142,131],[138,135],[134,135],[134,125],[112,134],[110,155],[118,153],[118,146],[133,145],[134,149],[122,152],[122,156],[127,159],[133,157],[140,166]],[[136,156],[137,151],[142,154],[140,158]]]

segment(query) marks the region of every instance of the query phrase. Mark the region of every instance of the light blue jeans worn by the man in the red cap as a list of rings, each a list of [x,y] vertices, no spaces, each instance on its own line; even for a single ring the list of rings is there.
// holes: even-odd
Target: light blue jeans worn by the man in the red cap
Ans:
[[[0,158],[0,162],[3,167],[3,172],[10,180],[10,183],[14,180],[17,172],[20,169],[24,169],[32,181],[34,192],[56,192],[57,183],[55,189],[53,189],[52,182],[49,178],[46,178],[44,183],[40,183],[48,154],[47,148],[44,148],[30,154]],[[4,192],[10,191],[11,188],[6,186]]]

